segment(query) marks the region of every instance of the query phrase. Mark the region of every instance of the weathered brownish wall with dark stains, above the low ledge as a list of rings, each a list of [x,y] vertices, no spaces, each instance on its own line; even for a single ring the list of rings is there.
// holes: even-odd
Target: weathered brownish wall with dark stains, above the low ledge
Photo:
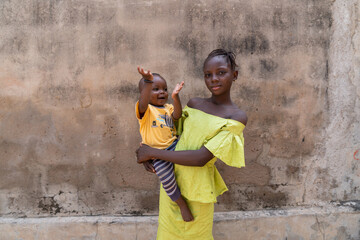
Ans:
[[[141,65],[185,105],[234,51],[246,163],[217,210],[359,199],[358,1],[0,2],[0,215],[157,213],[136,164]]]

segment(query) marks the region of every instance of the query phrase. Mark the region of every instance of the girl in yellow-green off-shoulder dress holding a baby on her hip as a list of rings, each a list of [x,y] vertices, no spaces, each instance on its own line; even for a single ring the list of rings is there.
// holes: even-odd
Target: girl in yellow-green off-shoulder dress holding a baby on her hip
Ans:
[[[229,166],[245,166],[243,130],[247,116],[230,97],[238,76],[236,66],[233,53],[212,51],[203,66],[211,97],[190,99],[183,109],[183,130],[176,150],[147,145],[137,150],[138,163],[159,158],[175,164],[177,183],[194,216],[193,222],[183,222],[179,208],[161,189],[158,240],[213,239],[214,203],[228,190],[214,163],[220,159]]]

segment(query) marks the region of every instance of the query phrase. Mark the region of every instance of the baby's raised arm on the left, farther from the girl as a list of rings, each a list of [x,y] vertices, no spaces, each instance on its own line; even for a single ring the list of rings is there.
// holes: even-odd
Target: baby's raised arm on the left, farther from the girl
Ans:
[[[142,117],[146,112],[146,109],[148,108],[148,104],[150,102],[150,93],[154,77],[149,70],[144,71],[144,69],[141,67],[138,67],[138,72],[145,79],[143,83],[140,83],[143,84],[143,86],[140,87],[141,92],[139,97],[139,114],[140,117]]]

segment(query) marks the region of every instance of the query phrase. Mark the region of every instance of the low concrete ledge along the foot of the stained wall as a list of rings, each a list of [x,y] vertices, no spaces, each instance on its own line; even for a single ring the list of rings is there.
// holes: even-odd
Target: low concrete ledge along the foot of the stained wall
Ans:
[[[213,235],[215,240],[358,240],[355,206],[359,203],[215,213]],[[0,240],[153,240],[157,221],[155,216],[0,218]]]

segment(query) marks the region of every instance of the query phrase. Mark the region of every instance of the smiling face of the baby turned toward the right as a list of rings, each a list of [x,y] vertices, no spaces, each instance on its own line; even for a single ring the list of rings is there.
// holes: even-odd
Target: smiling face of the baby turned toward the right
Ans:
[[[154,76],[151,87],[150,104],[158,107],[164,106],[169,97],[166,81],[159,76]]]

